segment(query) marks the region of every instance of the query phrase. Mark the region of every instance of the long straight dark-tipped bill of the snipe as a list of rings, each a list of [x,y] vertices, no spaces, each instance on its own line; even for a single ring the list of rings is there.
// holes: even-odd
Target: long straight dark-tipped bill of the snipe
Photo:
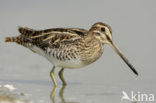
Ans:
[[[129,68],[133,71],[134,74],[138,75],[138,72],[135,70],[134,66],[129,62],[129,60],[121,53],[119,48],[115,46],[113,42],[108,43],[109,46],[111,46],[116,53],[123,59],[123,61],[129,66]]]

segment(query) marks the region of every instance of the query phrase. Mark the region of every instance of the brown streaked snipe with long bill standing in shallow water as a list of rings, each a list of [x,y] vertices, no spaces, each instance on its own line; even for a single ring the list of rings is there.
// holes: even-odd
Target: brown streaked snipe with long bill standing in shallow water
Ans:
[[[54,74],[56,67],[61,68],[58,75],[62,85],[66,85],[64,69],[82,68],[92,64],[102,56],[105,44],[115,50],[134,74],[138,75],[134,66],[113,42],[112,29],[106,23],[96,22],[89,30],[65,27],[36,30],[19,27],[18,31],[18,36],[6,37],[5,42],[22,45],[51,62],[53,67],[50,77],[54,86],[58,86]]]

